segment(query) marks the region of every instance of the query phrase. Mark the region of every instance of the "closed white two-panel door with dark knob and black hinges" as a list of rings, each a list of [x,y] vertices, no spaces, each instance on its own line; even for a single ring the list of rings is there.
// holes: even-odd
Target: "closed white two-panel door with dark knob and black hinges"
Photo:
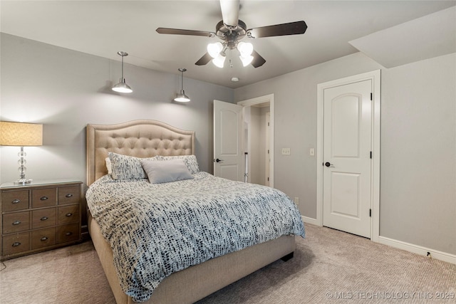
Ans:
[[[371,238],[372,80],[323,91],[323,226]]]

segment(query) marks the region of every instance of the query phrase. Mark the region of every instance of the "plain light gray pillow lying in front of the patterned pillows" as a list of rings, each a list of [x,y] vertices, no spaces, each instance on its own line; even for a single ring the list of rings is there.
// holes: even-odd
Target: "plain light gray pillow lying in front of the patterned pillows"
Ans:
[[[169,159],[153,161],[150,159],[141,160],[142,167],[149,178],[150,184],[162,184],[165,182],[176,182],[184,179],[193,179],[183,159]]]

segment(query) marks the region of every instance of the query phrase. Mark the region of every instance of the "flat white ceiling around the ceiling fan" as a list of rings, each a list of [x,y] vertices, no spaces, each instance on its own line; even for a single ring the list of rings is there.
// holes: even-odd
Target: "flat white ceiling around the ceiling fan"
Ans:
[[[247,1],[239,19],[247,28],[304,20],[303,35],[249,39],[266,59],[259,68],[220,69],[195,62],[217,38],[163,35],[157,27],[215,31],[219,1],[4,1],[1,32],[120,61],[238,88],[358,52],[348,41],[455,6],[456,1]],[[456,19],[443,26],[456,27]],[[419,32],[413,32],[419,35]],[[247,40],[247,38],[246,38]],[[397,43],[397,40],[394,40]],[[388,41],[385,41],[388,43]],[[388,49],[387,46],[383,48]],[[126,73],[126,72],[125,72]],[[233,83],[236,76],[239,82]],[[125,74],[128,79],[128,75]]]

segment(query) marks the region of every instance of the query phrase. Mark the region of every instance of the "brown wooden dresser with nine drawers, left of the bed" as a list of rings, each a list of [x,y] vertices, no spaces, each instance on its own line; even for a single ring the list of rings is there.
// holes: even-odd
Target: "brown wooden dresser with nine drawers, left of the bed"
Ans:
[[[81,185],[69,179],[0,186],[0,261],[81,241]]]

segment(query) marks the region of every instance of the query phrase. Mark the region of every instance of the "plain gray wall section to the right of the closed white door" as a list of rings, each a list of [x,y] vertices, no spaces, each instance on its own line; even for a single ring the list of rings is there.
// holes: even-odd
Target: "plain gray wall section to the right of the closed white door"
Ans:
[[[382,70],[380,235],[456,253],[456,54]]]

